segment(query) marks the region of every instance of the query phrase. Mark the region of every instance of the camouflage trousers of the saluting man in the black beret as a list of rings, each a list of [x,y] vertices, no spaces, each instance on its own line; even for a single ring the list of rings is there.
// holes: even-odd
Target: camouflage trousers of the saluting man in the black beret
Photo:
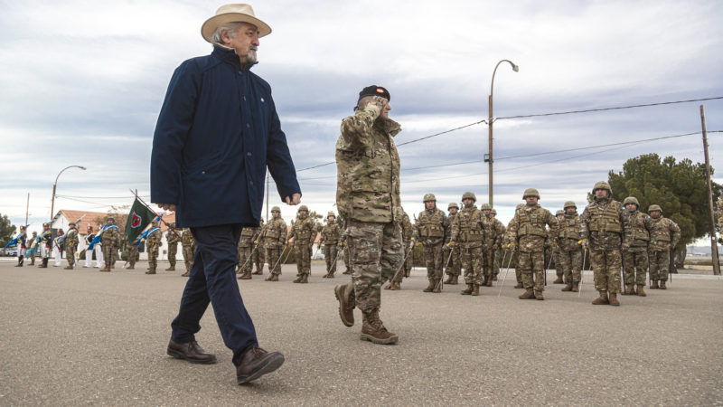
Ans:
[[[345,233],[352,257],[356,305],[364,313],[381,306],[381,285],[399,270],[404,248],[394,222],[347,221]]]

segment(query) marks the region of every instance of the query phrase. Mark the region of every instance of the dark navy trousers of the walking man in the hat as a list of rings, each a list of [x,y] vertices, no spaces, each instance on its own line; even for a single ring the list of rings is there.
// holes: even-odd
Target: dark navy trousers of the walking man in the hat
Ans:
[[[251,346],[258,346],[254,323],[243,305],[236,281],[240,224],[191,228],[196,249],[191,275],[183,289],[181,308],[171,323],[178,344],[195,340],[201,317],[213,306],[223,343],[233,351],[237,366]]]

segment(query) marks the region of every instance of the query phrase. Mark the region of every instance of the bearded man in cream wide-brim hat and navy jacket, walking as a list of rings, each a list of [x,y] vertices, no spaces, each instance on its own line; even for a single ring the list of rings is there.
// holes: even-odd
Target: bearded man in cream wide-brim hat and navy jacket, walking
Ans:
[[[151,155],[152,202],[176,211],[176,226],[191,228],[197,244],[167,353],[192,363],[216,362],[195,340],[211,303],[240,384],[284,363],[283,355],[258,347],[239,293],[241,228],[258,226],[267,166],[286,204],[298,204],[301,189],[271,88],[250,71],[258,39],[271,28],[250,5],[222,5],[201,33],[213,51],[174,71]]]

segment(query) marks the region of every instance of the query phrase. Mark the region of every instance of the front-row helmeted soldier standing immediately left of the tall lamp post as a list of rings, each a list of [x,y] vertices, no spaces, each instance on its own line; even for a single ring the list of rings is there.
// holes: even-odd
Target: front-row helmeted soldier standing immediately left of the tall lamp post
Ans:
[[[462,210],[452,220],[449,242],[446,248],[459,251],[462,269],[465,270],[467,289],[462,295],[480,295],[482,277],[482,248],[484,243],[484,226],[482,211],[474,206],[476,195],[471,192],[462,194]]]

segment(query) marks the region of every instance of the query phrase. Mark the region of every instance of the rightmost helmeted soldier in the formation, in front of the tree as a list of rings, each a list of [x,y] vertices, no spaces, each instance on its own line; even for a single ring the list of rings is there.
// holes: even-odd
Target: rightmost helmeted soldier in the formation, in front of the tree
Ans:
[[[665,283],[668,281],[670,253],[678,241],[681,241],[681,228],[677,223],[662,216],[659,205],[650,205],[648,213],[652,221],[649,246],[650,279],[653,281],[651,289],[667,289]]]

